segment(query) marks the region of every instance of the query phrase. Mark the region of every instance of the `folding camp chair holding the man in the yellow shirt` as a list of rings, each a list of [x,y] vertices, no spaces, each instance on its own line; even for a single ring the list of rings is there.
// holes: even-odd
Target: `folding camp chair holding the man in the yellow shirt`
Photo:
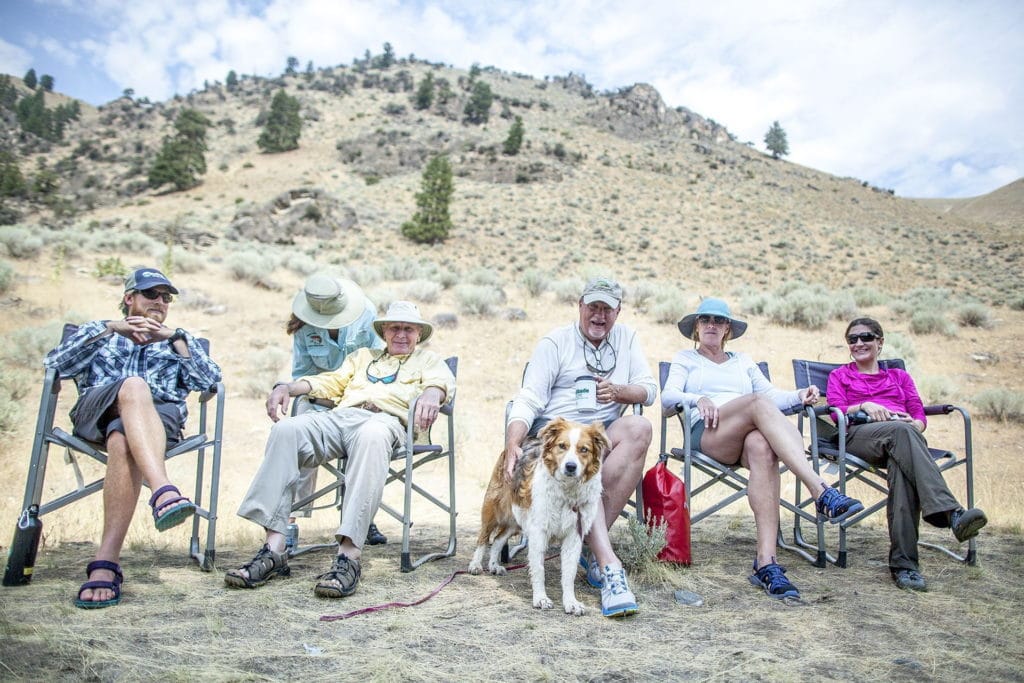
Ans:
[[[452,371],[453,375],[458,375],[459,370],[459,358],[452,356],[445,358],[449,369]],[[445,436],[439,442],[435,442],[431,434],[427,434],[427,443],[416,443],[415,430],[415,417],[416,417],[416,404],[419,401],[419,397],[416,398],[409,407],[409,416],[406,421],[406,442],[402,447],[396,450],[391,457],[391,463],[388,466],[388,476],[384,482],[384,485],[391,483],[392,481],[400,481],[404,486],[404,497],[402,499],[402,508],[397,510],[394,507],[388,505],[387,503],[381,503],[380,509],[391,515],[394,519],[401,523],[401,570],[412,571],[416,567],[420,566],[424,562],[429,562],[431,560],[440,559],[442,557],[451,557],[455,555],[456,551],[456,530],[455,530],[455,518],[456,518],[456,505],[455,505],[455,396],[452,397],[450,401],[441,405],[439,416],[443,416],[445,424]],[[436,427],[436,423],[434,424]],[[446,501],[440,496],[435,496],[422,483],[417,483],[414,481],[413,473],[415,470],[423,467],[427,463],[431,463],[435,460],[444,460],[447,462],[447,499]],[[302,498],[301,500],[295,501],[292,504],[292,512],[303,513],[311,512],[312,510],[322,510],[326,508],[337,508],[340,512],[345,500],[345,464],[347,463],[347,458],[344,456],[339,456],[334,460],[329,460],[321,467],[330,472],[333,477],[331,477],[330,483],[322,486],[321,488],[314,490],[309,496]],[[441,552],[427,553],[416,559],[413,559],[410,553],[410,531],[413,528],[413,494],[416,493],[427,502],[440,508],[449,517],[449,538],[447,546],[445,550]],[[322,502],[326,499],[327,502]],[[318,502],[319,501],[319,502]],[[311,550],[322,550],[325,548],[337,548],[335,543],[326,544],[315,544],[309,546],[301,546],[296,548],[291,552],[292,557],[307,553]]]

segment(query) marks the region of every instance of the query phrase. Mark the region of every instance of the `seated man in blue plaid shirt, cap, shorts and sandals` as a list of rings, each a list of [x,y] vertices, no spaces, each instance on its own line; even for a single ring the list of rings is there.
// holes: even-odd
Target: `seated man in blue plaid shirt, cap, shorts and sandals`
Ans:
[[[118,560],[142,481],[158,530],[190,517],[196,505],[167,477],[164,453],[181,439],[185,397],[220,381],[220,368],[199,340],[164,325],[178,291],[156,268],[139,268],[125,281],[124,318],[86,323],[46,355],[47,368],[75,378],[78,402],[74,433],[103,445],[103,535],[79,607],[108,607],[121,600],[124,577]]]

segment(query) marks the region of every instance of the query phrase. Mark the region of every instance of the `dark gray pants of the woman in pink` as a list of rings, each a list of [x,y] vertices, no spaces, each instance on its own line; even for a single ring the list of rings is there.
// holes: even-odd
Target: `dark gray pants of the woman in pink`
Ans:
[[[949,526],[949,511],[959,507],[928,452],[925,435],[906,422],[869,422],[850,427],[847,447],[886,468],[889,568],[916,570],[921,517],[933,526]]]

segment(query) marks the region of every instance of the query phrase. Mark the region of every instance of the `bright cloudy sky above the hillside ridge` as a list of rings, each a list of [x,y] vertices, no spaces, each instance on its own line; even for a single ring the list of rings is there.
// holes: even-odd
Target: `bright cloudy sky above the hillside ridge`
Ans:
[[[650,83],[793,162],[902,197],[1024,176],[1022,0],[0,0],[0,73],[93,104],[351,63],[390,42],[468,69]]]

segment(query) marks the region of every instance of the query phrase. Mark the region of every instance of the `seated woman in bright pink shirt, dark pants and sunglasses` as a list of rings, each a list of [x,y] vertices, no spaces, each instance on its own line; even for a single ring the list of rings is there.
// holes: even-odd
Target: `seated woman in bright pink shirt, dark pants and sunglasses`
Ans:
[[[977,508],[965,510],[953,498],[932,460],[923,432],[925,408],[910,375],[879,365],[885,344],[882,326],[858,317],[846,328],[853,362],[828,376],[825,396],[854,420],[847,449],[885,467],[889,480],[889,570],[900,588],[928,590],[918,563],[922,516],[933,526],[951,527],[959,542],[978,535],[988,519]]]

